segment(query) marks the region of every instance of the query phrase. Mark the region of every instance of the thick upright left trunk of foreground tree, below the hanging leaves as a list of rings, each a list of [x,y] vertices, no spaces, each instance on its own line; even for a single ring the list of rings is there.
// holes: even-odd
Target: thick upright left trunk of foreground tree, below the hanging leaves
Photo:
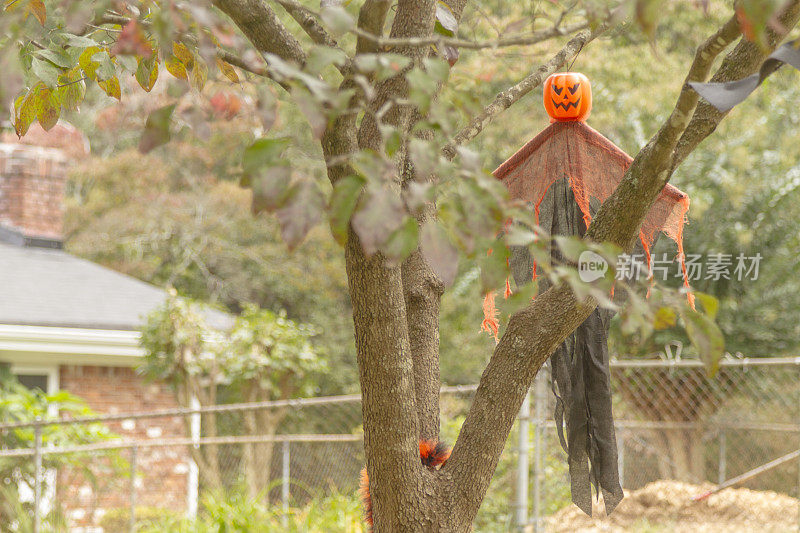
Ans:
[[[355,232],[345,245],[376,531],[428,531],[414,369],[399,267],[366,257]]]

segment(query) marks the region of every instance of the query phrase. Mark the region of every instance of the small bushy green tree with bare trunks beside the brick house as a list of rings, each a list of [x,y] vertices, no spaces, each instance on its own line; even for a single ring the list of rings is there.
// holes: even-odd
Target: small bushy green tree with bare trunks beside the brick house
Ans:
[[[229,332],[214,331],[204,320],[206,306],[170,295],[161,307],[148,315],[142,328],[145,358],[139,371],[169,383],[178,405],[184,408],[214,407],[220,403],[220,389],[240,391],[247,402],[286,400],[315,392],[325,363],[309,338],[314,330],[279,314],[245,306]],[[244,411],[244,434],[272,436],[287,414],[285,407]],[[219,424],[218,422],[222,422]],[[205,437],[220,434],[226,417],[201,415]],[[186,432],[192,436],[191,424]],[[243,446],[241,475],[250,497],[266,494],[274,442]],[[218,490],[225,479],[220,468],[219,447],[207,444],[191,448],[205,488]]]

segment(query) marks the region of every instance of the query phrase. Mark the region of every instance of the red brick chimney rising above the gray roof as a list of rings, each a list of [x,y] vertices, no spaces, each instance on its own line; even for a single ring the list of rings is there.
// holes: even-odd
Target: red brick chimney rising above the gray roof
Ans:
[[[0,135],[0,238],[60,248],[67,167],[87,154],[86,138],[66,123],[49,132],[37,124],[22,139]]]

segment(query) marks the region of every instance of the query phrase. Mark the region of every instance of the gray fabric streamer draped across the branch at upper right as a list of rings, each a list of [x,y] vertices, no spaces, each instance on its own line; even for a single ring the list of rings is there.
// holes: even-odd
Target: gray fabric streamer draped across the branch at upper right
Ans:
[[[725,113],[737,104],[744,102],[767,76],[782,67],[784,63],[800,70],[800,39],[785,43],[775,50],[767,57],[757,74],[735,81],[709,83],[690,81],[689,86],[705,98],[709,104],[716,107],[717,111]]]

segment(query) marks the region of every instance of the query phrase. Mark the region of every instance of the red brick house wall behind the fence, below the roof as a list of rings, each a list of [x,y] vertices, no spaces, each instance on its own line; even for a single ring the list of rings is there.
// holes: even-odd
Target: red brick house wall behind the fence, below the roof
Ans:
[[[172,391],[164,384],[149,383],[131,368],[62,366],[62,390],[80,396],[98,413],[118,414],[155,411],[177,407]],[[150,440],[185,437],[180,417],[122,420],[107,424],[124,439]],[[128,450],[116,452],[126,461]],[[58,473],[57,498],[73,527],[90,528],[100,523],[111,509],[128,507],[130,478],[114,467],[104,454],[93,454],[91,464],[96,484],[78,471]],[[137,506],[161,507],[180,512],[186,509],[189,482],[189,454],[185,447],[141,448],[137,453]],[[91,530],[91,529],[87,529]]]

